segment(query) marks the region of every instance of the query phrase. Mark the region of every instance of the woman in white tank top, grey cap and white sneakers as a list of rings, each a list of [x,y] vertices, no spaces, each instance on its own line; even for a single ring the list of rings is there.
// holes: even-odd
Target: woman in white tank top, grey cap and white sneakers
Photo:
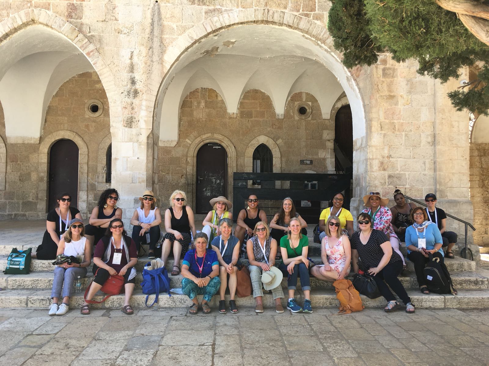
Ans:
[[[54,267],[53,289],[51,291],[52,304],[49,306],[49,315],[64,315],[68,311],[69,297],[73,291],[73,283],[78,277],[87,275],[87,267],[91,263],[91,248],[84,236],[83,220],[75,218],[69,222],[69,228],[63,234],[58,244],[56,255],[64,254],[80,259],[80,264],[59,264]],[[58,306],[60,297],[63,303]]]

